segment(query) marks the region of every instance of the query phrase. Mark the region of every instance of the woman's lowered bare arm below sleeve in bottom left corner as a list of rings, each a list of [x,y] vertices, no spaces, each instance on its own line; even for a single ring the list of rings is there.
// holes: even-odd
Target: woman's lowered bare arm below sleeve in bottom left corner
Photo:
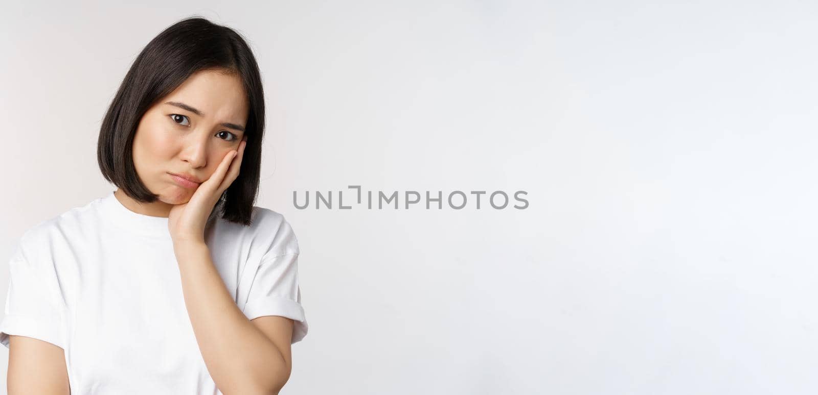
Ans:
[[[8,395],[69,395],[63,349],[47,341],[9,335]]]

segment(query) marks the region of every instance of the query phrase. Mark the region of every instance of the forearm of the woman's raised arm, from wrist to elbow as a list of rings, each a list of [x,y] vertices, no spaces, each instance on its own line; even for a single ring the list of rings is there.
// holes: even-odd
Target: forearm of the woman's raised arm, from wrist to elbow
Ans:
[[[185,242],[174,251],[187,313],[213,382],[225,395],[277,393],[287,379],[285,359],[236,305],[208,246]]]

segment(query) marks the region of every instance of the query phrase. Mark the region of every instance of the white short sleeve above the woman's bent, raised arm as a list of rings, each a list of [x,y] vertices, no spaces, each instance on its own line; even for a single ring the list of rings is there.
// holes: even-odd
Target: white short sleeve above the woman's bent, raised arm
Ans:
[[[307,335],[308,324],[301,305],[298,242],[290,224],[282,221],[274,246],[258,263],[242,311],[251,320],[263,316],[292,319],[290,344],[294,344]]]

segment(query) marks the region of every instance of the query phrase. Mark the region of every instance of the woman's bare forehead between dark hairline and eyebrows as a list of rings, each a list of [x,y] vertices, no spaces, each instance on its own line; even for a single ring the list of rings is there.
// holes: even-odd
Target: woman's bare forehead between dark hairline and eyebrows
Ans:
[[[249,111],[247,94],[236,73],[200,70],[187,78],[160,103],[181,102],[213,121],[244,124]],[[169,104],[164,104],[169,105]]]

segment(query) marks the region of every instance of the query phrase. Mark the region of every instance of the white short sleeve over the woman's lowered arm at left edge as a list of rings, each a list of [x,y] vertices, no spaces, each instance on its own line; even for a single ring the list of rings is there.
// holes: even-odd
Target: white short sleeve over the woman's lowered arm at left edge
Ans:
[[[64,305],[52,264],[26,257],[18,249],[9,260],[5,316],[0,322],[0,343],[9,347],[9,335],[47,341],[65,349]]]

